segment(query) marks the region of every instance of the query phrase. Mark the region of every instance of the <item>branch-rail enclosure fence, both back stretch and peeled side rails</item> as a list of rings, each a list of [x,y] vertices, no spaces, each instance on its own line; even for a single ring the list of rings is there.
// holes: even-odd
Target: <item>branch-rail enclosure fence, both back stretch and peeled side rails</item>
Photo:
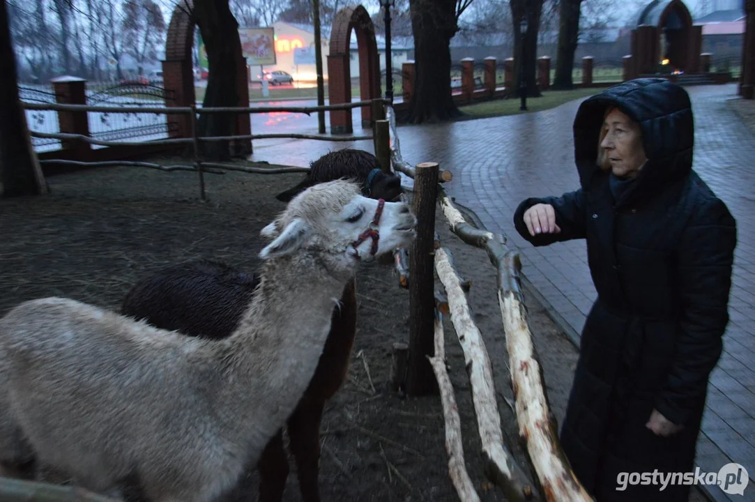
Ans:
[[[199,137],[196,131],[198,113],[215,112],[301,112],[312,113],[323,110],[350,109],[359,106],[373,106],[373,109],[382,109],[385,119],[375,122],[375,136],[349,136],[333,137],[327,135],[308,134],[251,134],[245,136],[227,137]],[[115,145],[146,145],[146,144],[191,144],[193,146],[193,162],[191,165],[160,165],[151,162],[79,162],[72,160],[52,159],[42,162],[59,163],[68,165],[107,166],[128,165],[162,169],[164,171],[196,171],[199,174],[199,186],[202,200],[205,200],[204,174],[223,174],[225,171],[242,171],[254,174],[279,174],[291,172],[307,172],[309,168],[295,166],[269,165],[257,163],[254,166],[228,165],[218,162],[204,162],[199,158],[200,141],[262,139],[269,137],[293,137],[309,140],[326,141],[350,141],[350,140],[374,140],[374,149],[380,157],[389,157],[387,165],[383,168],[387,171],[401,172],[415,179],[420,168],[433,171],[432,179],[435,180],[424,190],[429,193],[421,194],[426,199],[431,197],[439,203],[442,212],[448,220],[451,232],[458,236],[462,242],[484,249],[495,266],[498,273],[498,303],[501,308],[501,319],[507,340],[507,352],[509,356],[509,368],[515,398],[516,419],[519,425],[519,440],[523,443],[529,457],[529,463],[537,478],[535,483],[540,493],[549,501],[587,501],[592,500],[584,488],[576,479],[575,474],[569,467],[569,462],[559,445],[556,433],[556,423],[550,412],[550,405],[545,393],[545,385],[542,368],[538,361],[535,346],[532,343],[532,333],[527,325],[522,288],[519,282],[521,263],[516,251],[507,248],[504,236],[476,229],[464,219],[461,212],[455,208],[451,199],[446,195],[442,183],[452,179],[451,172],[439,169],[434,163],[424,163],[413,167],[406,162],[401,155],[399,137],[396,134],[396,115],[393,106],[385,100],[360,101],[357,103],[345,103],[331,106],[276,106],[276,107],[248,107],[248,108],[196,108],[196,107],[109,107],[109,106],[86,106],[66,105],[57,103],[22,103],[26,109],[58,110],[58,111],[82,111],[82,112],[151,112],[166,115],[186,114],[192,117],[192,137],[174,138],[168,140],[153,140],[142,142],[116,142],[94,140],[91,137],[80,134],[49,134],[31,133],[34,137],[51,137],[60,140],[85,141],[102,146]],[[388,134],[384,134],[386,131]],[[379,143],[379,144],[378,144]],[[390,154],[388,153],[390,152]],[[381,159],[381,162],[386,162]],[[255,167],[255,166],[267,167]],[[417,186],[415,186],[415,189]],[[415,200],[417,199],[415,193]],[[435,205],[432,214],[424,217],[421,224],[432,225],[435,228]],[[430,343],[433,354],[420,354],[420,360],[428,363],[431,374],[438,384],[442,408],[445,418],[445,448],[448,453],[448,474],[455,489],[464,502],[479,500],[470,476],[464,465],[464,451],[461,441],[461,424],[455,403],[454,390],[445,366],[444,334],[442,327],[442,314],[450,313],[451,322],[455,328],[467,366],[472,387],[473,406],[477,419],[478,433],[482,440],[482,457],[485,459],[486,474],[488,479],[500,486],[506,494],[507,500],[531,500],[535,497],[535,486],[530,481],[525,471],[516,463],[513,455],[504,444],[501,431],[501,417],[498,414],[498,404],[495,399],[495,389],[492,376],[492,365],[482,340],[482,334],[476,328],[470,309],[467,304],[466,291],[469,290],[469,282],[464,281],[458,275],[453,264],[451,252],[442,248],[437,234],[432,242],[432,252],[424,256],[424,260],[432,259],[438,277],[445,288],[446,297],[442,297],[434,291],[433,276],[426,277],[424,288],[430,290],[430,300],[433,300],[434,308],[429,312],[434,313],[430,323]],[[394,263],[399,272],[399,284],[408,288],[411,284],[411,269],[407,263],[417,261],[418,257],[411,257],[411,253],[405,249],[396,250]],[[428,258],[428,256],[430,258]],[[419,263],[419,262],[417,262]],[[433,294],[434,292],[434,294]],[[408,346],[402,343],[394,344],[395,368],[392,368],[392,378],[401,380],[406,376],[406,369],[399,367],[411,364],[407,362]],[[416,354],[414,356],[417,356]],[[415,363],[416,364],[416,363]],[[111,502],[112,499],[103,497],[82,488],[50,485],[42,482],[22,481],[18,479],[0,478],[0,500],[39,500],[40,502],[71,502],[72,500],[90,500],[91,502]]]

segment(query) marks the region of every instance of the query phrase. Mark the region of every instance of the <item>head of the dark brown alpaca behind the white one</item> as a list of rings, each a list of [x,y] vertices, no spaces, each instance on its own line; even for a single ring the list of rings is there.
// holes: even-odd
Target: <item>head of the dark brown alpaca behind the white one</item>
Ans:
[[[291,202],[298,193],[317,183],[347,178],[356,180],[362,195],[371,199],[397,201],[403,193],[398,174],[385,173],[377,157],[365,150],[344,148],[328,152],[310,164],[310,172],[300,183],[280,192],[276,199]]]

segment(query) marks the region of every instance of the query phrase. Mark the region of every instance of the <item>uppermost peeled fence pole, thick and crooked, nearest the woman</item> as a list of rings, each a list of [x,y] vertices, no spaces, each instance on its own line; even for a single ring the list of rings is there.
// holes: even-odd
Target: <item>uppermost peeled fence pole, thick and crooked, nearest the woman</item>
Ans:
[[[440,205],[451,223],[451,231],[467,244],[485,249],[498,271],[498,303],[506,333],[519,439],[537,473],[541,493],[553,502],[593,500],[569,467],[559,444],[542,368],[526,321],[518,254],[507,249],[500,234],[485,232],[467,223],[445,190],[439,188],[439,192]]]

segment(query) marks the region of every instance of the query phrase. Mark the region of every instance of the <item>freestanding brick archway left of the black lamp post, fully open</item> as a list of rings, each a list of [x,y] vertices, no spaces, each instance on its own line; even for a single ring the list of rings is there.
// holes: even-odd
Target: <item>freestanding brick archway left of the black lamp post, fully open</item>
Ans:
[[[328,54],[328,100],[330,104],[351,102],[351,30],[356,30],[359,47],[359,95],[362,101],[380,97],[380,60],[377,57],[375,30],[362,5],[350,5],[337,12],[333,19]],[[352,109],[330,112],[331,133],[353,133]],[[362,106],[362,127],[370,127],[372,111]]]

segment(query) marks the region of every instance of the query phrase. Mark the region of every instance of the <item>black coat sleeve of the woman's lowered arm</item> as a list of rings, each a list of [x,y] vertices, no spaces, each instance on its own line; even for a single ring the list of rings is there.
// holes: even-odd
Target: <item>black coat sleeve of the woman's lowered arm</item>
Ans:
[[[677,248],[680,331],[670,374],[655,399],[655,409],[677,425],[698,408],[723,350],[736,243],[734,218],[713,198],[695,211]]]

